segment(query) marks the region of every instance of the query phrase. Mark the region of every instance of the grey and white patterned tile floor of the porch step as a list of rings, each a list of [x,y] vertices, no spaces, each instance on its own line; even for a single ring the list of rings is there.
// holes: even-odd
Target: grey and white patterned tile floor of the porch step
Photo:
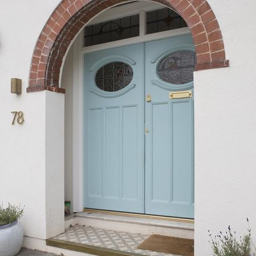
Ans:
[[[80,244],[88,244],[91,246],[133,252],[142,255],[174,256],[172,254],[163,254],[162,252],[152,252],[151,250],[137,249],[137,246],[147,237],[149,237],[149,235],[133,234],[85,226],[73,226],[72,228],[68,228],[65,233],[54,238],[70,242],[78,242]]]

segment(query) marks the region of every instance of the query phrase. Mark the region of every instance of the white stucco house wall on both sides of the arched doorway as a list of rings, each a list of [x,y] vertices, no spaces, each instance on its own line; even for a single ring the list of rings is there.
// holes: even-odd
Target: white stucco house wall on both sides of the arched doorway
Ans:
[[[63,229],[54,211],[64,199],[64,95],[25,89],[36,39],[58,2],[1,1],[0,9],[0,202],[25,204],[25,235],[40,239]],[[194,75],[196,256],[211,255],[208,229],[244,233],[246,217],[256,241],[256,4],[209,4],[231,65]],[[22,79],[20,96],[10,94],[12,77]],[[11,125],[14,110],[24,112],[23,125]]]

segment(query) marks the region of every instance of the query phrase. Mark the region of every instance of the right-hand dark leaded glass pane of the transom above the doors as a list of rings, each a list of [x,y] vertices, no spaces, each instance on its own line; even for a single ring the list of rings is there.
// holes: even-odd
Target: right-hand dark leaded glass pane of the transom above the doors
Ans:
[[[147,34],[188,27],[174,10],[163,8],[147,12]]]

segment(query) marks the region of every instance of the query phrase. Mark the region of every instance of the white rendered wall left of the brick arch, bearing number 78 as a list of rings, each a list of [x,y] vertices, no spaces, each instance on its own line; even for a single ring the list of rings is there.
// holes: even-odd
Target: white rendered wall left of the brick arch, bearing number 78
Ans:
[[[46,127],[49,120],[46,101],[48,110],[50,107],[47,93],[26,93],[26,88],[36,40],[58,3],[59,0],[10,0],[1,1],[0,8],[0,203],[25,205],[21,220],[25,236],[41,239],[57,229],[58,233],[63,230],[54,226],[57,218],[52,212],[57,209],[51,208],[52,194],[46,191],[51,180],[46,159],[60,157],[60,154],[55,144],[52,144],[52,156],[46,152],[46,135],[55,133],[54,127],[51,131]],[[10,78],[14,77],[22,79],[20,96],[10,93]],[[54,97],[58,97],[57,94]],[[64,111],[61,107],[60,115]],[[24,112],[23,125],[11,125],[10,112],[15,110]],[[62,168],[63,156],[57,160],[60,161],[57,168]]]

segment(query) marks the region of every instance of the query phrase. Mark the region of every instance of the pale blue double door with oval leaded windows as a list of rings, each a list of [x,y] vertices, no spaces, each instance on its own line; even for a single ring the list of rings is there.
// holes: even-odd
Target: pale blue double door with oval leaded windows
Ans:
[[[194,218],[193,85],[159,68],[192,47],[184,35],[85,54],[86,208]]]

